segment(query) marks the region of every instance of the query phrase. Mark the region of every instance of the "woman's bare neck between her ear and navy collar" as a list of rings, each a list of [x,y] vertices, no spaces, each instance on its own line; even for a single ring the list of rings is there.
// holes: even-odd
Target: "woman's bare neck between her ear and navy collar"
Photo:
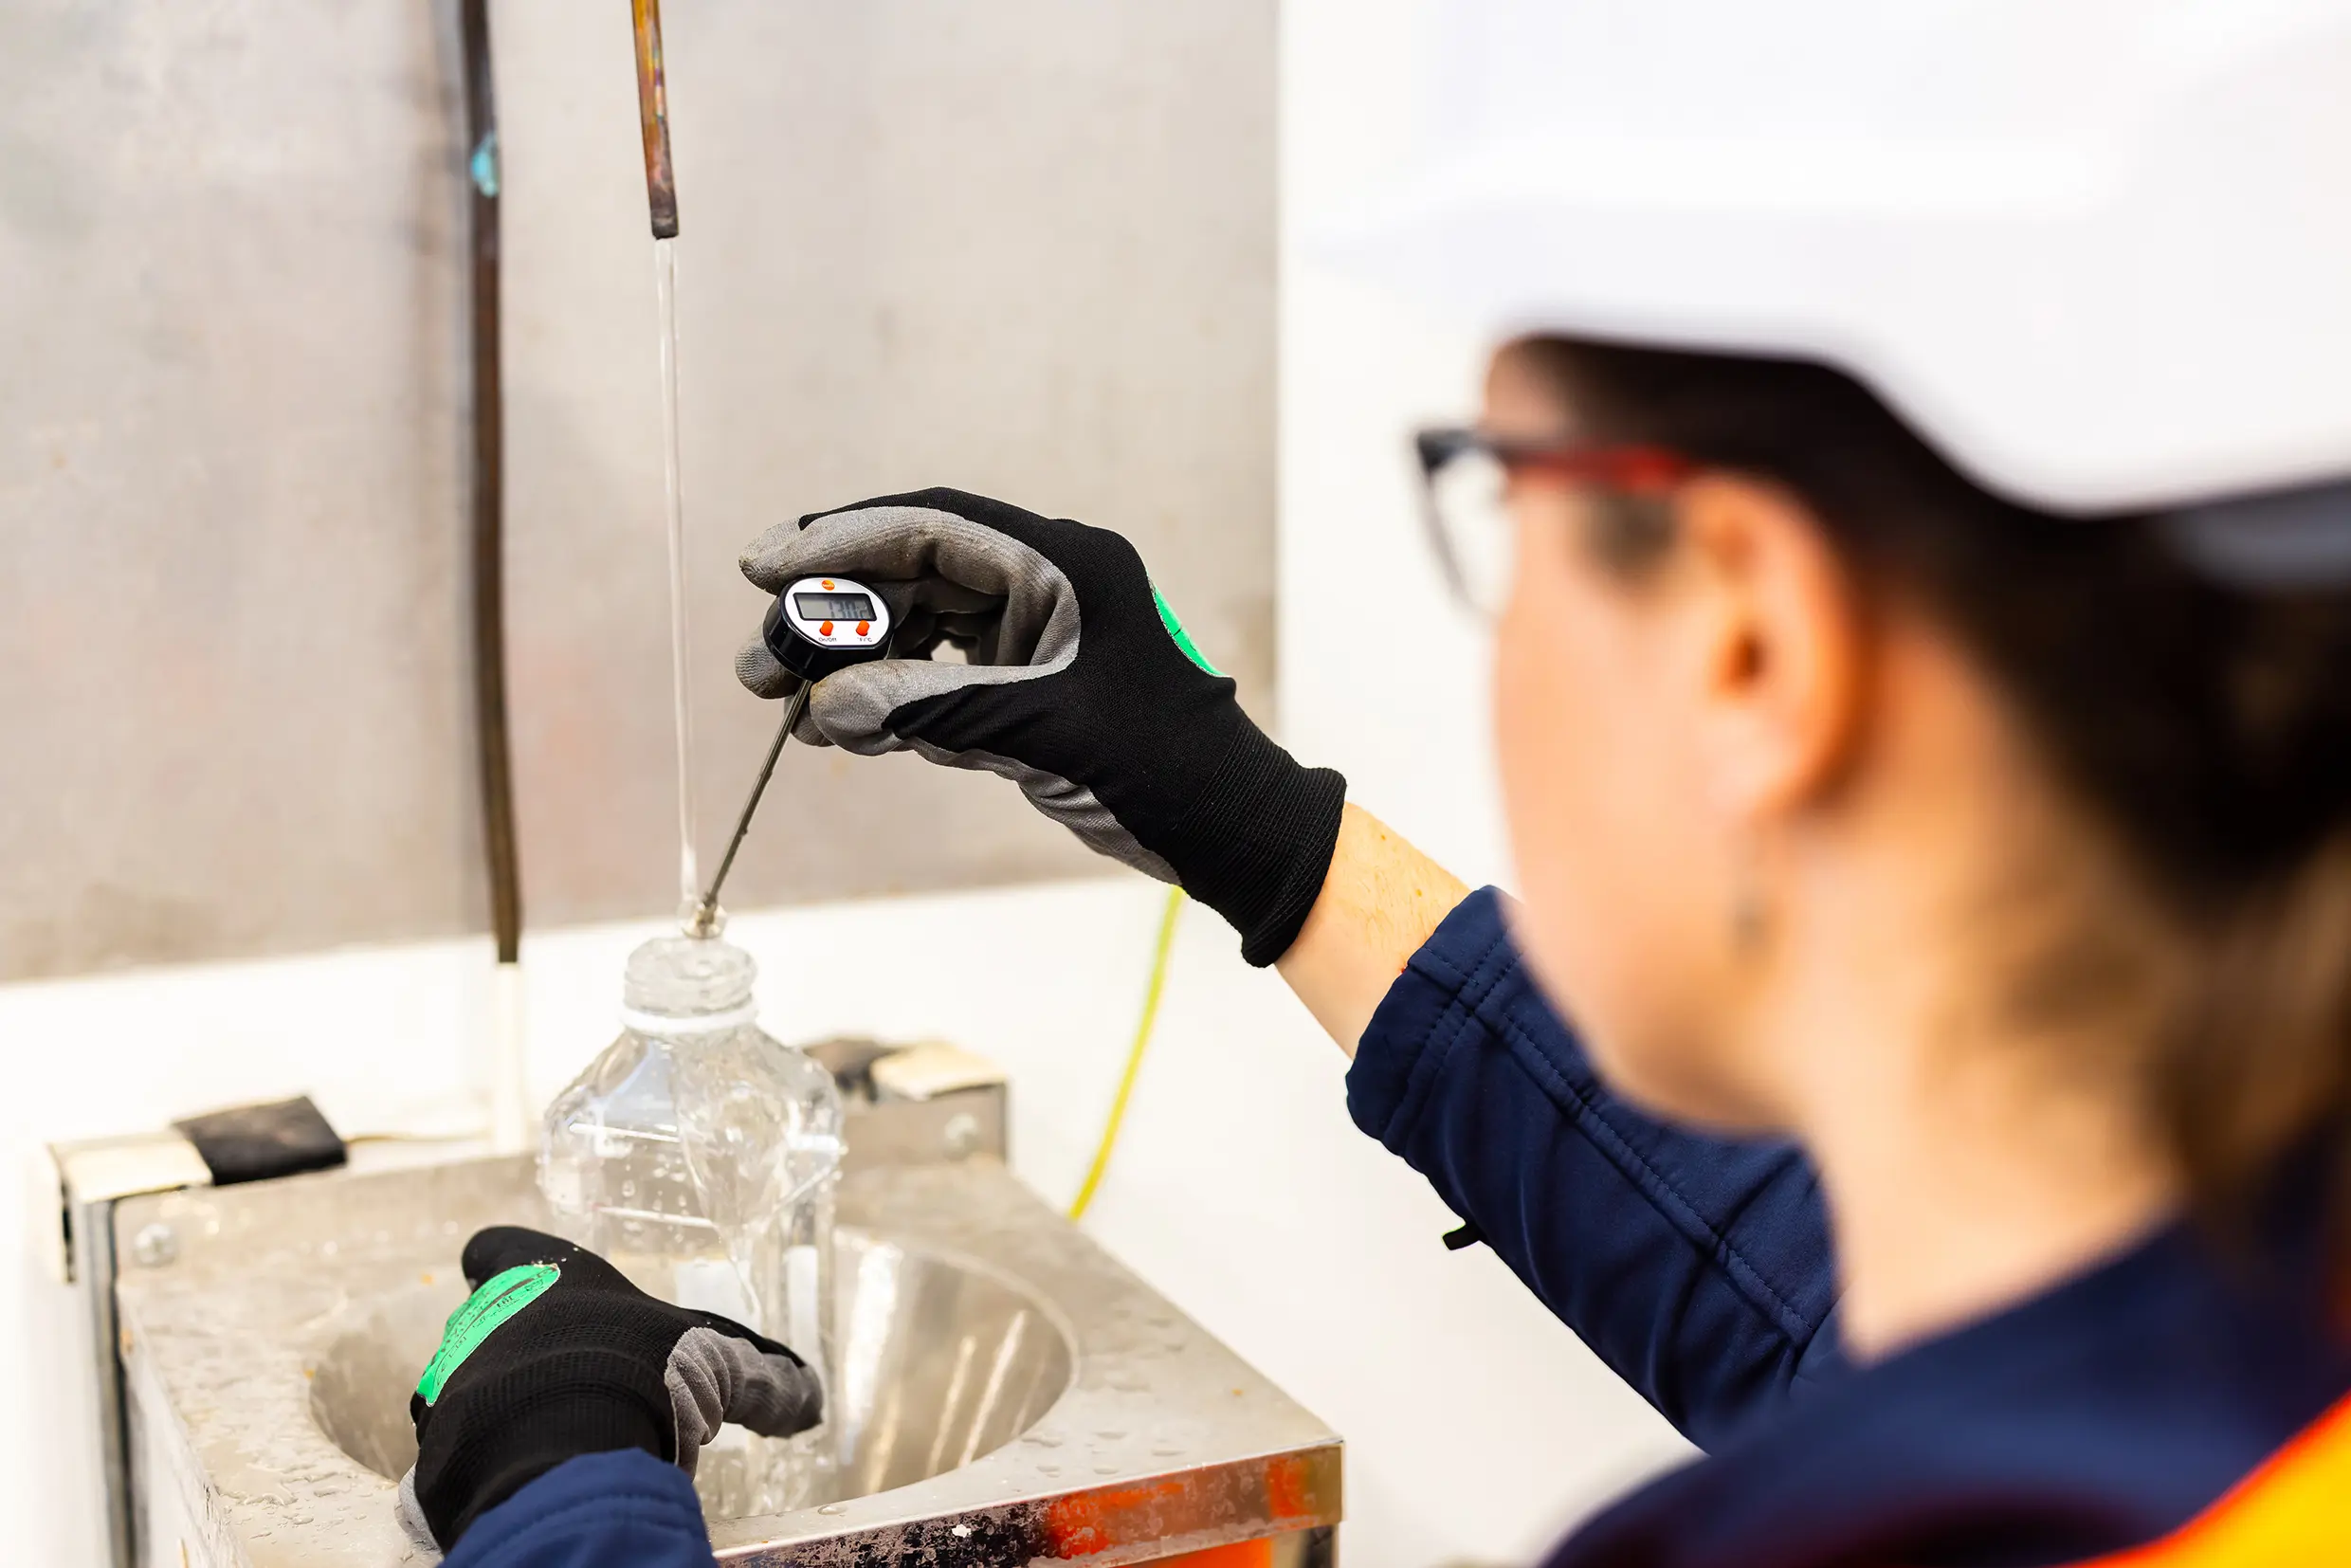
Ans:
[[[1789,842],[1751,992],[1857,1359],[2083,1272],[2179,1197],[2132,1046],[2165,1011],[2165,931],[1956,654],[1881,654],[1902,701],[1834,832]]]

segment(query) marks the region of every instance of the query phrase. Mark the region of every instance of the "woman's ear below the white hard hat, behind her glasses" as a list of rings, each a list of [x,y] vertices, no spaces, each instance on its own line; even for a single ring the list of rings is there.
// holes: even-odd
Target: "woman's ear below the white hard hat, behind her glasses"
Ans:
[[[1726,818],[1791,813],[1836,785],[1862,724],[1864,609],[1789,489],[1702,475],[1679,496],[1700,748]]]

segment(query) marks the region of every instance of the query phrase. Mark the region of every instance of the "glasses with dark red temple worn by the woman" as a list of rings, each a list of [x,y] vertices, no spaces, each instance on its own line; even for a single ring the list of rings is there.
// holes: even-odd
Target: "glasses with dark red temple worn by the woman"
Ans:
[[[1420,456],[1422,515],[1446,583],[1474,614],[1493,618],[1509,595],[1514,534],[1509,487],[1540,475],[1622,496],[1665,496],[1697,465],[1665,447],[1589,442],[1514,442],[1474,428],[1434,428],[1413,437]]]

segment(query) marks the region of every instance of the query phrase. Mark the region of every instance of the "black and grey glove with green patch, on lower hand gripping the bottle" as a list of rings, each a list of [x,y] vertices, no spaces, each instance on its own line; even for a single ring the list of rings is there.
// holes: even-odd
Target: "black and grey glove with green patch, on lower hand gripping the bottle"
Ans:
[[[654,1300],[595,1253],[520,1225],[465,1244],[473,1298],[409,1399],[411,1535],[451,1549],[484,1512],[583,1453],[642,1448],[689,1476],[722,1422],[792,1436],[823,1385],[783,1345],[715,1312]]]

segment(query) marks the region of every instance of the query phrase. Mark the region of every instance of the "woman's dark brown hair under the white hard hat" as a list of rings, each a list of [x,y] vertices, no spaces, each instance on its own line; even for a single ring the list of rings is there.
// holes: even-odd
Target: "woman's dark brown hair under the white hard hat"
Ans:
[[[2137,1060],[2198,1208],[2241,1218],[2283,1159],[2330,1145],[2351,1260],[2351,585],[2238,588],[2154,517],[2017,505],[1824,364],[1566,339],[1512,353],[1599,440],[1784,484],[1853,571],[1958,637],[2172,936],[2146,976],[2071,933],[2059,973],[2027,987],[2095,1006],[2149,980]],[[1639,569],[1669,524],[1603,508],[1596,543]]]

